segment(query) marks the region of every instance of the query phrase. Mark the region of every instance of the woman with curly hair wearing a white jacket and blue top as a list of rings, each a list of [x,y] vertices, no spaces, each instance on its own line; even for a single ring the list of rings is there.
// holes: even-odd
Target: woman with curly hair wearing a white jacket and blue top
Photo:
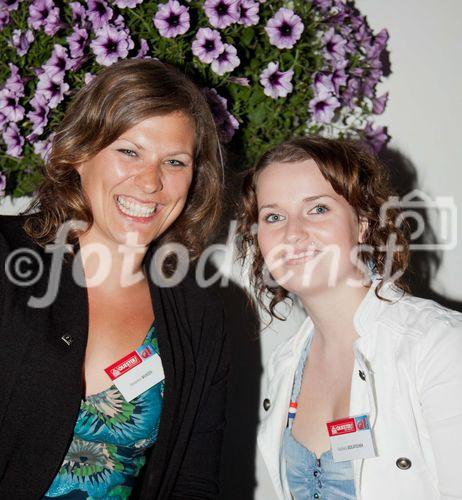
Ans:
[[[257,298],[308,317],[266,368],[260,453],[279,499],[462,498],[462,315],[412,296],[384,168],[306,137],[247,174],[239,226]],[[329,425],[327,425],[329,424]]]

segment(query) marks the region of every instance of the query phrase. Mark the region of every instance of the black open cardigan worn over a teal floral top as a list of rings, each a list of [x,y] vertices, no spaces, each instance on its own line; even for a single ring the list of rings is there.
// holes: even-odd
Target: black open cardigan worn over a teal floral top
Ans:
[[[52,254],[25,234],[24,220],[0,216],[0,498],[14,500],[40,498],[61,466],[79,412],[88,335],[86,289],[72,275],[73,262],[83,275],[80,258],[62,264],[49,307],[27,305],[47,289]],[[41,278],[30,286],[13,284],[5,273],[8,255],[18,248],[33,249],[44,262]],[[150,248],[145,266],[152,255]],[[223,307],[191,274],[171,288],[150,277],[149,287],[164,404],[157,443],[133,496],[217,498],[228,373]]]

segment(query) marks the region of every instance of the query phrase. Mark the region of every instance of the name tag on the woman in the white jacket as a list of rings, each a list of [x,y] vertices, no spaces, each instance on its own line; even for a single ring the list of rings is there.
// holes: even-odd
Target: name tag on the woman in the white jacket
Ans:
[[[334,462],[375,457],[369,415],[327,423]]]

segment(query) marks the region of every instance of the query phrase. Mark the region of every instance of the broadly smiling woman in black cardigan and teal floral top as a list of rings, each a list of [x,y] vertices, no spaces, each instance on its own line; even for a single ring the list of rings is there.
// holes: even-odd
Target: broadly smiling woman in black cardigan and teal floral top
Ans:
[[[75,96],[30,209],[0,217],[1,498],[217,498],[223,308],[191,272],[151,271],[163,243],[193,262],[215,227],[218,147],[191,81],[126,60]]]

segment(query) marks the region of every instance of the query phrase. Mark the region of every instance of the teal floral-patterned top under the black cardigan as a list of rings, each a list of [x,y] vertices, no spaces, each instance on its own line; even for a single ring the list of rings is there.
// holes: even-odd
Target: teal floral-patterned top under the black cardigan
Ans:
[[[159,353],[154,324],[143,345]],[[45,498],[128,498],[157,439],[163,389],[161,381],[127,402],[112,385],[82,400],[71,445]]]

